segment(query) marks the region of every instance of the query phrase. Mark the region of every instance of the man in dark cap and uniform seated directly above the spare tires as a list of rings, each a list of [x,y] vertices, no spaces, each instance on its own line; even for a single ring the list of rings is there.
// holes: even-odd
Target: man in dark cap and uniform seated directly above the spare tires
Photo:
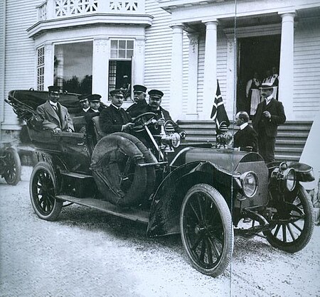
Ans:
[[[107,134],[114,132],[129,132],[134,126],[132,117],[121,107],[124,95],[121,90],[110,92],[111,104],[100,113],[100,128]]]

